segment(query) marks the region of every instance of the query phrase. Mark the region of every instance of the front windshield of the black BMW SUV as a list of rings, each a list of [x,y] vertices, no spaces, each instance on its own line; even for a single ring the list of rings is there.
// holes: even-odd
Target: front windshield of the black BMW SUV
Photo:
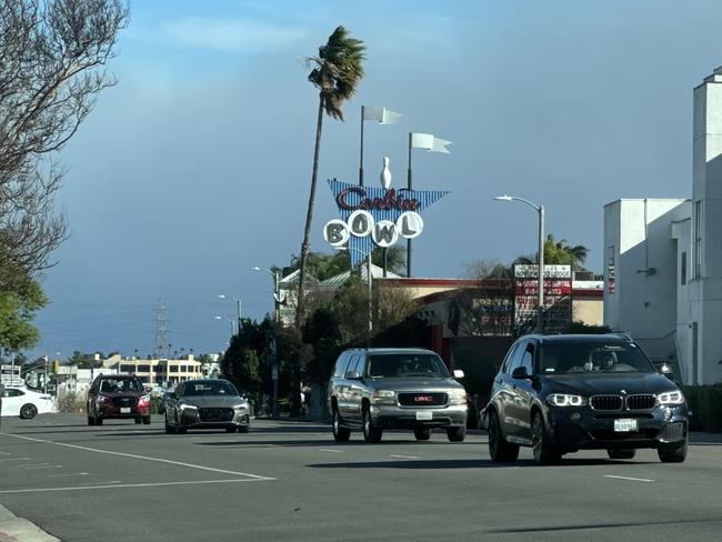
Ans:
[[[631,342],[545,343],[540,354],[539,370],[544,374],[654,372],[646,357]]]

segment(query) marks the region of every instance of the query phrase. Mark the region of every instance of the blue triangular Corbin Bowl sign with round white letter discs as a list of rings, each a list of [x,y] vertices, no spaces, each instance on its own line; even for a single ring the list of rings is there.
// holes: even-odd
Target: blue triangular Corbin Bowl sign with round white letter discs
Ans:
[[[327,222],[323,239],[333,248],[349,247],[355,268],[374,247],[389,248],[423,231],[421,211],[449,192],[361,187],[329,180],[341,218]]]

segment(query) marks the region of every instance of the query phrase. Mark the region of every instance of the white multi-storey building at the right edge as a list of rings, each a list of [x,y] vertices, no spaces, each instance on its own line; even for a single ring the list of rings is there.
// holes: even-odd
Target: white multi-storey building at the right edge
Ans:
[[[694,89],[692,199],[604,207],[604,323],[689,384],[722,381],[722,68]]]

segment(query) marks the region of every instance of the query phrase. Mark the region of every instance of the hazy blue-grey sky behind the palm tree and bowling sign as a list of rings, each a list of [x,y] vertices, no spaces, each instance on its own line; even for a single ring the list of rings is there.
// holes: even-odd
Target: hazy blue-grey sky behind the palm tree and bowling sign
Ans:
[[[323,122],[312,250],[330,252],[338,218],[325,179],[358,178],[365,104],[403,113],[365,123],[368,184],[384,155],[404,184],[409,132],[452,141],[413,152],[414,188],[451,191],[423,213],[415,277],[534,253],[538,217],[504,193],[543,204],[601,272],[604,204],[691,195],[692,89],[722,64],[721,18],[718,0],[136,0],[118,83],[57,157],[71,235],[29,354],[153,352],[160,301],[172,351],[219,352],[233,299],[273,310],[250,268],[300,252],[318,108],[303,58],[339,24],[364,41],[365,77],[345,122]]]

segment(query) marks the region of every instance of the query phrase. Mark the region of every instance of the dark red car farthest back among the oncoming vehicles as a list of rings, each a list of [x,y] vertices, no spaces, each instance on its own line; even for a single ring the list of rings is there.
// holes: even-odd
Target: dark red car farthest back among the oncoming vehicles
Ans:
[[[88,425],[126,419],[150,423],[150,395],[134,374],[101,374],[88,391]]]

